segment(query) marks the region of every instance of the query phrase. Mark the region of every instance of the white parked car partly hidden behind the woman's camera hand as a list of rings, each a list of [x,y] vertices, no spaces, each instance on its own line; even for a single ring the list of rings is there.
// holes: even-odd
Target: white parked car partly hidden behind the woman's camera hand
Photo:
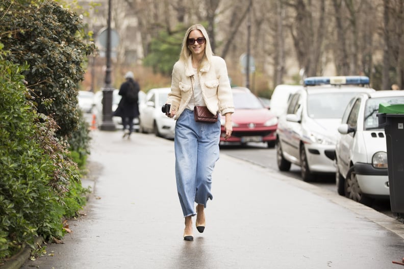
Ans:
[[[140,106],[140,132],[152,132],[158,137],[174,138],[175,120],[168,118],[161,107],[166,103],[170,88],[156,88],[147,92]]]

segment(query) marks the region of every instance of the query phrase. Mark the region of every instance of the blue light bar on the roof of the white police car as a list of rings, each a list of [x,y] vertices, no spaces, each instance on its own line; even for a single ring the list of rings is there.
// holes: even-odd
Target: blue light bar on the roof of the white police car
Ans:
[[[367,76],[312,76],[305,78],[305,86],[315,85],[364,85],[369,84]]]

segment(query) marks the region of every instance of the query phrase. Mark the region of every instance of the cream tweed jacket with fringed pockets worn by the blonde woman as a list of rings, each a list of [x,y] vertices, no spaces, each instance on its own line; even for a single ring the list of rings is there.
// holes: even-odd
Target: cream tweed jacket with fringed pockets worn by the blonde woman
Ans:
[[[168,94],[167,103],[171,104],[171,110],[176,110],[175,119],[180,117],[192,99],[191,76],[194,71],[191,61],[191,57],[188,63],[178,61],[172,70],[171,92]],[[234,113],[233,93],[225,61],[213,56],[212,63],[205,63],[197,75],[209,111],[212,114],[219,112],[221,115]],[[195,83],[195,79],[192,81]]]

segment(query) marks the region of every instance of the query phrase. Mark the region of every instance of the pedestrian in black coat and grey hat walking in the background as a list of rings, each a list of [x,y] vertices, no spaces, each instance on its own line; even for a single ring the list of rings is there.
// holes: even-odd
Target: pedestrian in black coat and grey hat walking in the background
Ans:
[[[119,95],[122,96],[119,101],[118,107],[114,112],[114,116],[122,118],[123,125],[123,138],[128,136],[128,139],[131,136],[133,131],[133,120],[139,117],[139,104],[138,100],[131,101],[127,97],[127,93],[130,90],[130,87],[134,87],[136,91],[136,96],[140,91],[139,84],[134,80],[134,75],[131,71],[125,74],[126,81],[122,83],[119,88]]]

